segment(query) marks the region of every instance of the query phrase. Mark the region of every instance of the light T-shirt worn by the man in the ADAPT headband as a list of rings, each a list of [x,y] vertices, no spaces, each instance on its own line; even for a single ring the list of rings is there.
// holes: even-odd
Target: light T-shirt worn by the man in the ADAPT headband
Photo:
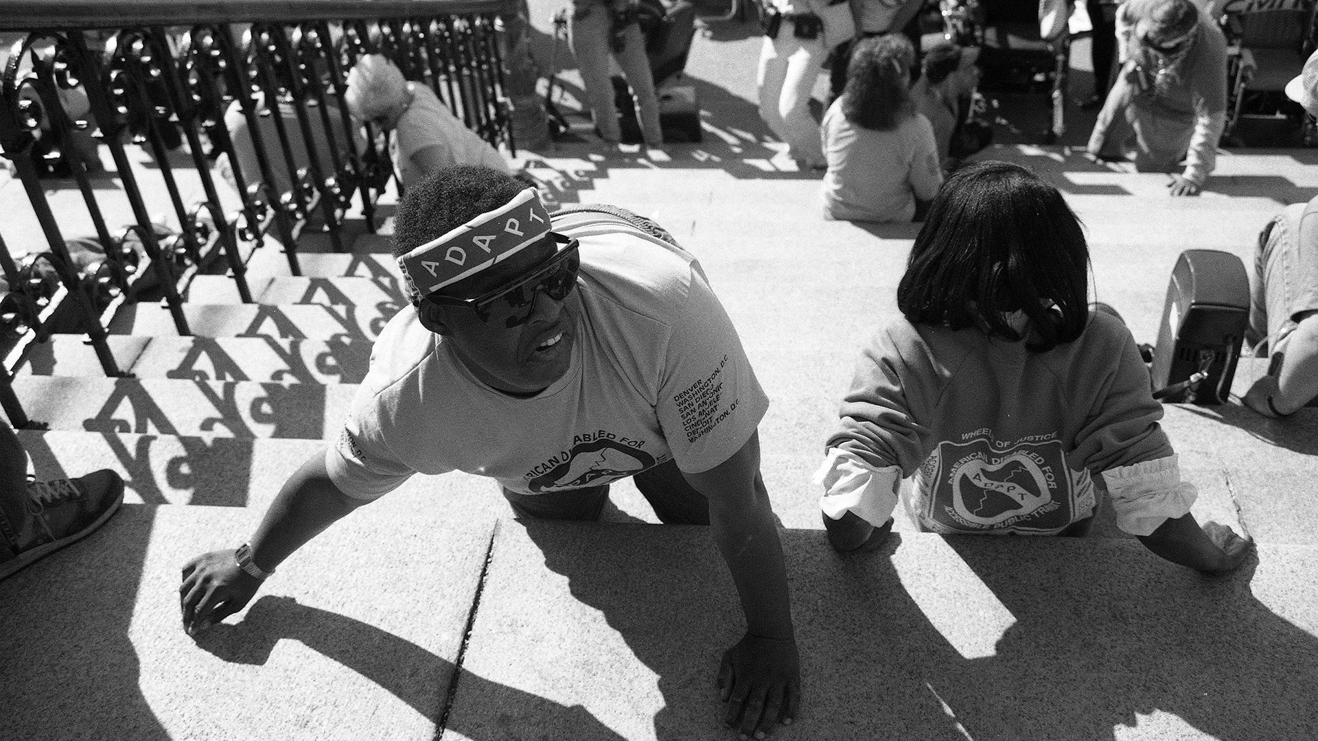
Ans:
[[[670,459],[699,473],[741,450],[768,398],[700,264],[641,229],[584,222],[560,229],[581,241],[567,373],[531,398],[500,393],[405,309],[326,452],[336,487],[376,498],[413,472],[465,471],[535,494]]]

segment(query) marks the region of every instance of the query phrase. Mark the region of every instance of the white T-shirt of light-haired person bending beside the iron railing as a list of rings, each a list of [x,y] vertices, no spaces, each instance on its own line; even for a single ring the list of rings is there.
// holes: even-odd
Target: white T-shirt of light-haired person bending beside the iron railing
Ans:
[[[411,156],[427,146],[444,152],[444,166],[480,165],[501,173],[511,173],[507,161],[478,133],[467,128],[457,116],[440,103],[435,91],[423,83],[409,82],[413,102],[398,117],[398,127],[389,140],[389,156],[398,167],[403,187],[413,187],[424,179]]]

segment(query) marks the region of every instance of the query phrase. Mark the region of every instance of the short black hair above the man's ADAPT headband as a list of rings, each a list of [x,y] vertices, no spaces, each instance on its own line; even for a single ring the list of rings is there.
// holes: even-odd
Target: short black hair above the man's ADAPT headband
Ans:
[[[490,167],[455,165],[407,189],[394,211],[394,257],[442,237],[494,211],[526,190],[526,183]]]

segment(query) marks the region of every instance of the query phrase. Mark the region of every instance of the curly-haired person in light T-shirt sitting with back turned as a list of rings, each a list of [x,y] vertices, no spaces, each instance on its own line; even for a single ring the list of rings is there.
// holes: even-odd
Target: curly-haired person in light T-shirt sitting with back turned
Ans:
[[[855,45],[846,87],[820,128],[825,219],[909,222],[916,202],[938,191],[938,148],[911,102],[912,65],[915,47],[904,36]]]

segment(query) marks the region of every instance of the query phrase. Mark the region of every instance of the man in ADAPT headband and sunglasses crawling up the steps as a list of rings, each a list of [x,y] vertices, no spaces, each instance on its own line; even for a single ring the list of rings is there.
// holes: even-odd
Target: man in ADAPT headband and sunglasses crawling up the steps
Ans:
[[[415,310],[380,334],[337,438],[250,542],[183,568],[188,633],[413,473],[490,477],[519,517],[585,521],[631,476],[662,522],[708,525],[731,572],[747,628],[718,675],[725,724],[762,738],[792,723],[800,659],[759,472],[768,397],[695,257],[617,214],[550,216],[535,189],[488,167],[409,189],[394,256]]]

